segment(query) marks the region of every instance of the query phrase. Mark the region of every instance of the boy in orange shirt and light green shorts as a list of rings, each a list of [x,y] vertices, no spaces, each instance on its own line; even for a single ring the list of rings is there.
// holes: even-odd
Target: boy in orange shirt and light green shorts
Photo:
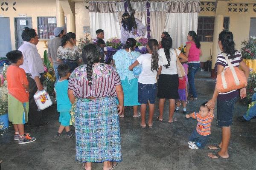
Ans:
[[[12,62],[7,68],[6,79],[8,89],[8,117],[12,122],[15,135],[14,140],[19,144],[35,141],[29,133],[25,133],[24,124],[27,123],[29,111],[29,82],[22,68],[23,55],[21,51],[10,51],[6,57]]]

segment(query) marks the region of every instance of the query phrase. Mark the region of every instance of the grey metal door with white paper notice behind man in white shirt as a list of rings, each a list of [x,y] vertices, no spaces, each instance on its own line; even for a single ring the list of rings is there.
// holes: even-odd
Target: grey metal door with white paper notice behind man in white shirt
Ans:
[[[24,27],[32,28],[32,17],[15,17],[14,26],[15,26],[15,46],[16,46],[16,49],[18,49],[20,45],[23,44],[21,34]]]

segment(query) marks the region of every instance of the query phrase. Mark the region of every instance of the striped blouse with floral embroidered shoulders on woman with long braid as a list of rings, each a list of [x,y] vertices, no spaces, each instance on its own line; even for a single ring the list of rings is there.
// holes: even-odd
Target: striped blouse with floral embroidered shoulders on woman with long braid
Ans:
[[[104,63],[95,63],[92,70],[91,86],[88,85],[86,65],[81,65],[70,75],[68,89],[81,98],[116,96],[116,85],[121,85],[121,80],[115,69]]]

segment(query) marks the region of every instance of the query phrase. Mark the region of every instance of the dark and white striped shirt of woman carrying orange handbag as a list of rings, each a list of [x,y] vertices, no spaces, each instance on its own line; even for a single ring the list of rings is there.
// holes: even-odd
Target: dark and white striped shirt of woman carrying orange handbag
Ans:
[[[230,54],[227,55],[227,57],[230,57]],[[234,59],[230,59],[231,64],[233,65],[233,67],[239,67],[240,62],[242,62],[243,59],[241,57],[241,53],[240,51],[235,52],[235,58]],[[221,54],[218,54],[217,57],[217,61],[215,64],[215,70],[217,71],[217,66],[218,65],[222,65],[224,67],[224,69],[228,68],[228,64],[227,61],[223,55],[223,52]],[[229,100],[232,99],[236,96],[239,95],[239,91],[238,90],[233,90],[233,91],[229,91],[227,93],[219,93],[218,94],[218,98],[217,99],[221,99],[221,100]]]

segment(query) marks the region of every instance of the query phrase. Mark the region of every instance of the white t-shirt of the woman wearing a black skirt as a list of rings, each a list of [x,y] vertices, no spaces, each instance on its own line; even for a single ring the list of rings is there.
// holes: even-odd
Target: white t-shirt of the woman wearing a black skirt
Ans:
[[[179,56],[181,51],[179,49],[176,49],[177,55]],[[166,59],[164,49],[161,48],[158,52],[158,54],[163,57],[163,60]],[[165,66],[162,67],[161,74],[178,74],[177,72],[177,57],[175,54],[174,48],[170,48],[170,67],[166,68]]]

